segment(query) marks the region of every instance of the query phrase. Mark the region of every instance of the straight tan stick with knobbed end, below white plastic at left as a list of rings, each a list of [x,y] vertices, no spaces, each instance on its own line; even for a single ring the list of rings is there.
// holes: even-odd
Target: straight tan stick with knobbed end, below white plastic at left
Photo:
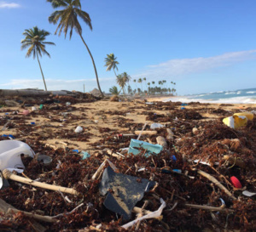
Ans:
[[[77,192],[76,190],[66,188],[66,187],[57,186],[57,185],[52,185],[52,184],[45,184],[45,183],[41,183],[41,182],[31,180],[28,178],[22,178],[18,175],[15,175],[14,173],[11,173],[8,169],[3,170],[3,177],[6,179],[12,179],[12,180],[18,181],[18,182],[21,182],[24,184],[30,184],[32,186],[40,187],[40,188],[46,189],[46,190],[55,190],[55,191],[60,190],[63,193],[79,195],[79,192]]]

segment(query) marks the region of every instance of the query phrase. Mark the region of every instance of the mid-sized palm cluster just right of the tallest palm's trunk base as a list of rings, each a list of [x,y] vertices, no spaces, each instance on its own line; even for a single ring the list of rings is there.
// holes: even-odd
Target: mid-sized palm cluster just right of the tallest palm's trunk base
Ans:
[[[119,75],[116,75],[115,70],[119,70],[118,66],[119,62],[116,60],[117,57],[114,57],[114,54],[107,54],[107,58],[105,58],[105,66],[107,66],[107,71],[113,70],[114,75],[116,76],[116,82],[123,90],[123,94],[125,95],[125,86],[128,84],[128,93],[129,89],[131,89],[131,86],[129,85],[129,82],[131,81],[131,76],[127,74],[127,72],[123,72]],[[113,95],[119,95],[120,91],[116,86],[113,86],[112,88],[109,88],[109,92]]]

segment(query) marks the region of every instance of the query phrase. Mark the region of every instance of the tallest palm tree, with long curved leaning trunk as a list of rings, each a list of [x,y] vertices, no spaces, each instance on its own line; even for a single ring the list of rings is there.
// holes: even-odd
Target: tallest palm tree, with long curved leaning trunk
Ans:
[[[84,38],[82,37],[82,27],[79,24],[78,16],[82,20],[84,20],[84,23],[90,27],[90,30],[92,30],[92,25],[90,23],[90,15],[81,9],[80,0],[47,0],[47,2],[51,3],[53,8],[63,8],[61,10],[56,10],[54,13],[50,14],[48,18],[49,23],[53,23],[54,25],[60,20],[60,23],[55,31],[55,34],[59,30],[59,36],[61,36],[61,31],[63,29],[66,38],[67,31],[70,30],[69,39],[71,39],[73,29],[75,29],[75,31],[77,31],[82,41],[84,42]],[[90,49],[88,48],[85,42],[84,46],[87,48],[87,51],[90,54],[90,59],[92,61],[96,75],[96,82],[100,92],[102,93],[94,59],[92,57],[92,54],[90,53]],[[104,97],[103,93],[102,97]]]

